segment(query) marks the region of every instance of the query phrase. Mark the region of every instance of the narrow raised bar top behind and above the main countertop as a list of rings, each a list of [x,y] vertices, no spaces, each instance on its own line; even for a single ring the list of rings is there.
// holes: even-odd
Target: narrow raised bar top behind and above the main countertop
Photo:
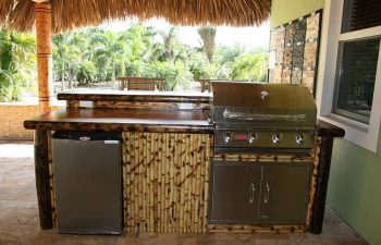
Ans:
[[[210,93],[184,91],[139,91],[78,88],[59,93],[59,100],[87,101],[130,101],[130,102],[199,102],[209,103],[212,100]]]

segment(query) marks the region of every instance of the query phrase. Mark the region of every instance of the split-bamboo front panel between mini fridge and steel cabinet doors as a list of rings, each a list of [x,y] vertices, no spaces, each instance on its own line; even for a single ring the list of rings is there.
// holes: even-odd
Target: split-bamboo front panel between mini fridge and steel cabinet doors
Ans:
[[[123,133],[128,232],[206,231],[212,135]]]

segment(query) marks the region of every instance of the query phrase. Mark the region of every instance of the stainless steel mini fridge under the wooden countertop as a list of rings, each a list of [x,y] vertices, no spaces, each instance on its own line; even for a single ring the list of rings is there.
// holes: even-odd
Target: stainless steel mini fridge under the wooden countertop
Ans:
[[[121,136],[56,132],[53,173],[59,233],[122,232]]]

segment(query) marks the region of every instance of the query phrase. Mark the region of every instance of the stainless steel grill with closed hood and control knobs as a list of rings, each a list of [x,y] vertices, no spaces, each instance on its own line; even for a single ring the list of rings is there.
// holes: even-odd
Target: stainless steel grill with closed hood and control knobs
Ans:
[[[214,82],[216,152],[308,154],[317,109],[304,86]]]

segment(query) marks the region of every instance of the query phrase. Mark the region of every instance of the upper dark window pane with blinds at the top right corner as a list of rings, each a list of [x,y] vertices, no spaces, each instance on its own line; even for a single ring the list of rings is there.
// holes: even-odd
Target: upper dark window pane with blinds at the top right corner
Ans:
[[[345,0],[342,33],[381,25],[381,0]]]

